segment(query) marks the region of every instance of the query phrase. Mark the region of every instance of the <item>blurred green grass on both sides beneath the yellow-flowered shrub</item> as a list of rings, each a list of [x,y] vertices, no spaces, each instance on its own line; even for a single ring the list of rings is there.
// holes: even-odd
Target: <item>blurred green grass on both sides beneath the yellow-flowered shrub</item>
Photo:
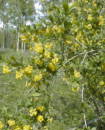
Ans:
[[[3,59],[14,55],[25,58],[28,54],[13,50],[0,52],[0,57]],[[3,75],[2,64],[2,61],[0,61],[0,118],[16,118],[25,121],[24,110],[30,104],[29,97],[35,92],[25,87],[24,80],[15,80],[14,74]],[[51,107],[55,114],[55,121],[50,128],[51,130],[63,130],[68,127],[75,127],[82,122],[80,95],[72,93],[71,87],[61,82],[61,80],[59,75],[51,83]],[[45,100],[47,101],[47,99]],[[92,115],[93,112],[89,109],[87,116],[91,118]]]

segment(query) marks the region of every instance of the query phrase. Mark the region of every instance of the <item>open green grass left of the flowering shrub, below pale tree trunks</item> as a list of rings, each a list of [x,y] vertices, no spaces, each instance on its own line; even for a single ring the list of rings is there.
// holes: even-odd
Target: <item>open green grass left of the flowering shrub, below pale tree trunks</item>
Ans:
[[[4,51],[0,56],[6,59],[12,55],[22,55],[22,52]],[[14,116],[19,112],[20,106],[27,100],[25,81],[17,81],[14,74],[2,74],[2,61],[0,66],[0,117]],[[21,107],[22,109],[22,107]]]

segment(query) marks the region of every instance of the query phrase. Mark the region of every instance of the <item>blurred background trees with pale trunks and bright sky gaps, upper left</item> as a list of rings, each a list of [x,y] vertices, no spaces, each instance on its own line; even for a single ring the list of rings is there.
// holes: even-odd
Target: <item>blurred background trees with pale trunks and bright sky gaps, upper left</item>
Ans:
[[[19,41],[20,28],[41,21],[50,13],[47,10],[52,4],[59,5],[62,1],[65,0],[0,0],[0,48],[25,49]]]

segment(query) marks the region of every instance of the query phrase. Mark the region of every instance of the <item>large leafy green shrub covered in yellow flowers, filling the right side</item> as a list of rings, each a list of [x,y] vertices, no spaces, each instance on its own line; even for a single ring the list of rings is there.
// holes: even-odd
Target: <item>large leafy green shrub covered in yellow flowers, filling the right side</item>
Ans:
[[[4,73],[15,71],[16,79],[25,79],[26,86],[38,94],[40,100],[32,102],[34,98],[30,98],[24,115],[33,129],[48,127],[49,118],[61,120],[55,116],[52,101],[52,96],[56,95],[52,82],[56,83],[55,78],[60,74],[59,79],[81,98],[80,106],[76,107],[81,107],[84,129],[88,129],[86,113],[91,110],[98,118],[97,130],[104,130],[104,1],[62,1],[59,6],[49,1],[49,4],[46,17],[34,26],[21,29],[20,39],[29,48],[29,58],[24,61],[12,57],[3,67]],[[37,110],[39,106],[45,108],[45,112]],[[28,116],[27,109],[30,109],[32,117]]]

